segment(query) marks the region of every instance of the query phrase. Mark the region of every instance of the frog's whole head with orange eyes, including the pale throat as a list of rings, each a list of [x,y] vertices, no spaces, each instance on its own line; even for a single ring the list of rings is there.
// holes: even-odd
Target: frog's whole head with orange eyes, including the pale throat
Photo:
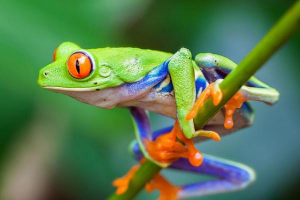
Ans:
[[[37,82],[84,103],[114,107],[122,99],[117,96],[121,89],[117,86],[124,80],[110,63],[113,53],[103,51],[105,48],[82,49],[72,42],[63,42],[55,49],[53,62],[40,69]]]

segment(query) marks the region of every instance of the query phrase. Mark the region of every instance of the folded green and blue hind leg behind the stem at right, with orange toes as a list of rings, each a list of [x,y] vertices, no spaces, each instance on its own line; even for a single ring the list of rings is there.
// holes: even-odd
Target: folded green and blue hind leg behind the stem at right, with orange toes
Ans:
[[[219,83],[223,78],[233,70],[237,65],[230,59],[221,55],[212,53],[199,53],[195,57],[197,66],[201,69],[205,79],[210,83],[201,92],[199,98],[195,101],[192,109],[186,115],[185,119],[190,120],[195,118],[198,109],[203,106],[204,101],[208,97],[212,97],[213,104],[217,105],[222,99],[222,92],[219,88]],[[224,105],[225,120],[224,127],[230,129],[233,127],[234,111],[240,108],[247,100],[259,100],[268,104],[273,104],[278,100],[279,93],[267,84],[256,79],[254,76],[241,86]]]

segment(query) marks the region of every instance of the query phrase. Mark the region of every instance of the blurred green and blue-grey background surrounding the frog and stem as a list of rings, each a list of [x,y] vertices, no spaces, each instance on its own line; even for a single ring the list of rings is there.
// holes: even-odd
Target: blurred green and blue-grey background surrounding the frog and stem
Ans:
[[[104,110],[38,87],[55,47],[136,46],[213,52],[239,62],[293,0],[9,0],[0,3],[0,199],[104,199],[111,181],[136,163],[126,109]],[[299,196],[299,31],[257,73],[280,92],[253,102],[254,124],[200,151],[256,170],[248,188],[202,199]],[[153,129],[172,123],[151,114]],[[176,184],[200,175],[163,170]],[[155,199],[142,191],[136,199]],[[195,199],[195,198],[194,198]]]

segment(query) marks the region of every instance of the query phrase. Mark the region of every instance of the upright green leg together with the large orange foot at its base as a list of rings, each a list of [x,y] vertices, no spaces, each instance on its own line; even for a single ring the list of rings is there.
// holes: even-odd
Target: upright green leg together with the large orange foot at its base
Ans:
[[[193,120],[185,119],[195,100],[193,67],[191,53],[186,48],[181,48],[169,58],[168,71],[174,88],[177,117],[169,133],[160,135],[154,141],[145,140],[147,152],[159,163],[170,163],[178,157],[185,157],[189,159],[192,165],[199,166],[203,156],[195,148],[190,138],[201,135],[220,140],[216,132],[209,130],[195,131]]]

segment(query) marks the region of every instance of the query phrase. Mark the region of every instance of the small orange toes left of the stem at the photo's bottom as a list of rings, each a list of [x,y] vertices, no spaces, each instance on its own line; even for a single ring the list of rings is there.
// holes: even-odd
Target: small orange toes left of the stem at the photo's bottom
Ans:
[[[138,168],[139,168],[138,165],[134,165],[127,172],[127,174],[113,180],[112,185],[116,187],[116,191],[115,191],[116,194],[122,194],[127,190],[129,181],[131,180],[131,178],[133,177],[134,173],[137,171]]]

